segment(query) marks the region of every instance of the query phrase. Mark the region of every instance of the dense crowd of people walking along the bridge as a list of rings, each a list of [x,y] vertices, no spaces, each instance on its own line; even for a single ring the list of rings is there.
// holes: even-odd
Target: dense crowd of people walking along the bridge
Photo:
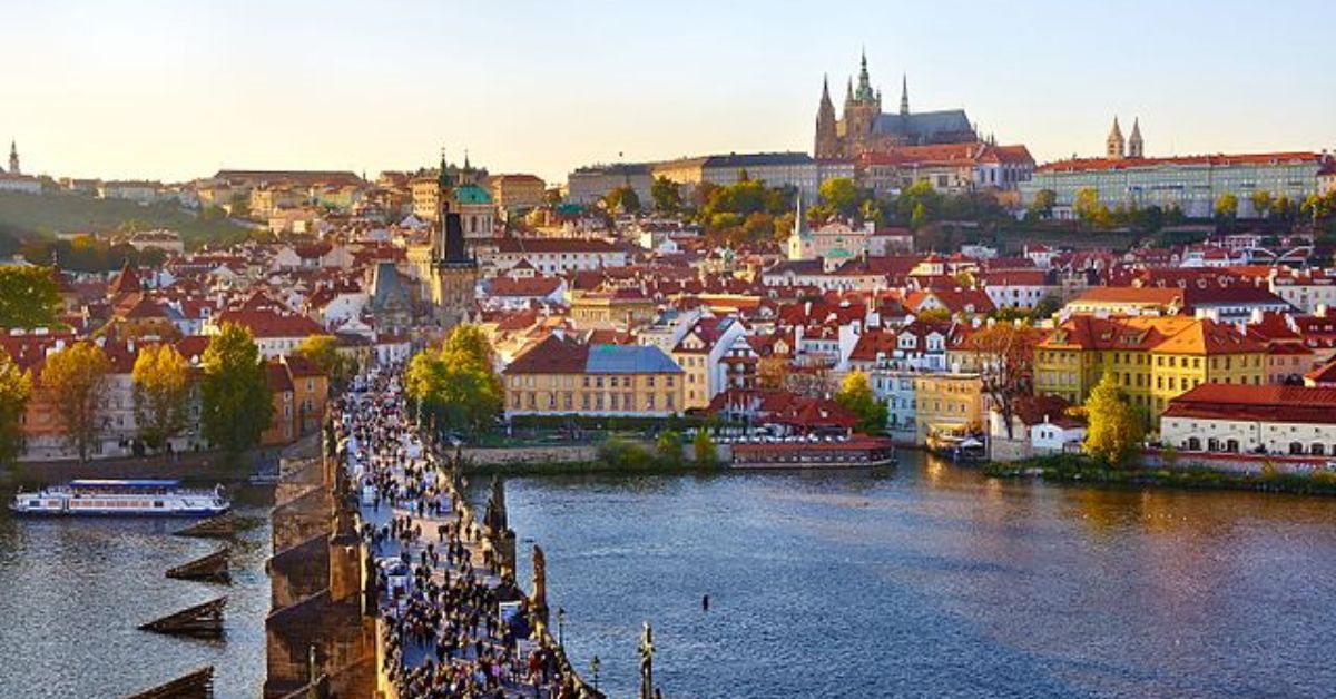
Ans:
[[[548,636],[530,640],[529,600],[513,571],[497,569],[454,465],[422,442],[399,373],[359,377],[333,414],[377,561],[381,670],[398,695],[577,698]]]

